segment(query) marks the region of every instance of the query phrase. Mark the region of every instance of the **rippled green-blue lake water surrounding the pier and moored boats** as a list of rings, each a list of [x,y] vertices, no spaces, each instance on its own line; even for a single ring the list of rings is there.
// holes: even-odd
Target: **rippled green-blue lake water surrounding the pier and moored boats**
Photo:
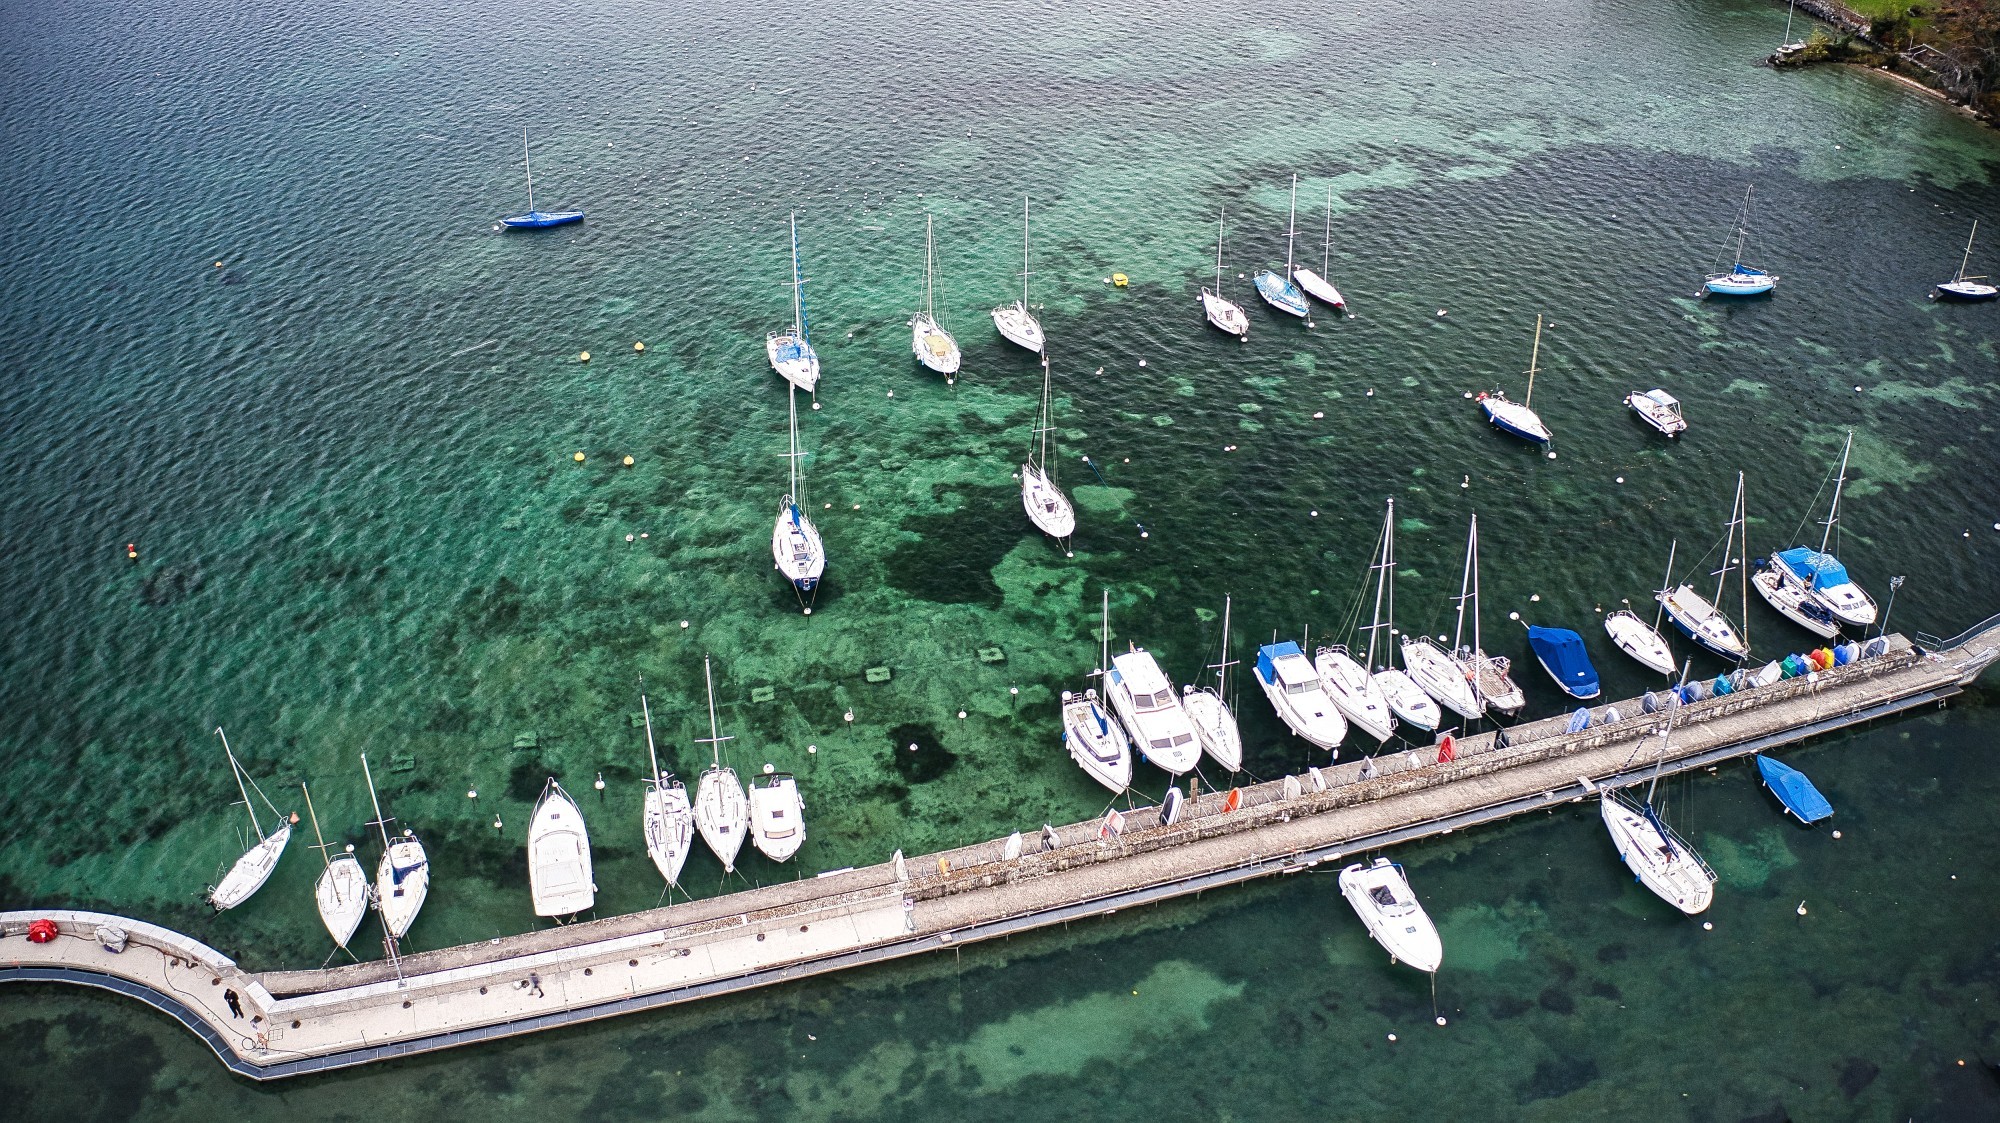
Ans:
[[[198,903],[242,831],[210,733],[224,723],[266,791],[312,781],[328,831],[352,841],[368,817],[354,757],[370,751],[392,813],[432,843],[418,947],[532,927],[520,829],[550,773],[584,793],[600,915],[648,907],[636,683],[690,771],[704,653],[732,761],[794,769],[806,789],[806,849],[792,867],[748,861],[750,879],[1094,815],[1100,791],[1056,745],[1054,695],[1094,661],[1098,589],[1112,589],[1114,635],[1184,679],[1212,659],[1224,593],[1238,655],[1274,629],[1326,635],[1350,613],[1386,496],[1404,625],[1448,629],[1476,510],[1490,645],[1526,655],[1504,623],[1514,609],[1574,625],[1626,695],[1648,681],[1598,641],[1596,609],[1644,603],[1676,536],[1694,567],[1736,470],[1752,544],[1790,540],[1848,426],[1856,575],[1878,593],[1910,575],[1902,627],[1948,633],[1994,607],[1996,322],[1924,292],[2000,198],[2000,148],[1868,74],[1750,66],[1782,26],[1758,4],[1542,4],[1500,24],[1448,4],[530,18],[122,4],[8,12],[6,26],[0,150],[26,216],[0,236],[8,903],[144,915],[252,965],[320,961],[304,847],[242,909]],[[586,206],[586,224],[492,230],[520,204],[522,124],[538,202]],[[1294,172],[1302,258],[1334,194],[1332,276],[1356,316],[1306,330],[1252,308],[1250,344],[1226,342],[1192,300],[1216,208],[1230,210],[1226,288],[1252,304],[1234,274],[1282,262]],[[1696,302],[1746,180],[1754,250],[1782,292]],[[1020,516],[1010,474],[1038,372],[986,328],[1014,284],[1022,194],[1060,472],[1084,514],[1074,560]],[[794,208],[826,360],[804,418],[810,488],[832,504],[810,619],[764,562],[784,392],[760,336],[786,316]],[[926,212],[966,348],[952,390],[914,370],[902,326]],[[1104,284],[1114,270],[1130,290]],[[1464,400],[1518,388],[1538,312],[1552,324],[1534,402],[1554,462]],[[1652,384],[1688,404],[1678,446],[1618,406]],[[1770,655],[1804,639],[1762,605],[1750,635]],[[866,681],[878,665],[888,683]],[[1560,703],[1532,667],[1522,677],[1538,711]],[[772,699],[754,701],[758,687]],[[1240,709],[1256,775],[1322,759],[1254,695]],[[1982,1015],[1946,1013],[2000,1001],[1990,917],[1938,885],[1904,905],[1936,949],[1882,963],[1884,941],[1918,941],[1884,931],[1906,913],[1880,885],[1908,881],[1898,861],[1928,873],[1944,857],[1990,877],[1980,847],[1938,841],[1990,821],[1972,763],[1994,743],[1988,713],[1976,695],[1942,725],[1816,747],[1806,759],[1842,821],[1870,823],[1848,825],[1844,849],[1778,829],[1740,769],[1696,783],[1724,873],[1714,935],[1620,889],[1590,821],[1412,849],[1448,957],[1490,963],[1446,971],[1440,999],[1460,993],[1446,1001],[1464,1009],[1446,1035],[1418,1035],[1410,1011],[1428,995],[1308,881],[974,951],[964,971],[898,967],[302,1095],[316,1113],[402,1095],[436,1113],[450,1103],[426,1097],[442,1089],[486,1113],[550,1097],[580,1109],[598,1093],[574,1075],[588,1055],[584,1071],[650,1089],[624,1113],[762,1115],[774,1095],[818,1115],[1050,1113],[1092,1097],[1138,1113],[1264,1073],[1266,1095],[1202,1111],[1288,1117],[1310,1095],[1358,1111],[1328,1091],[1346,1077],[1318,1073],[1388,1061],[1378,1023],[1400,1019],[1432,1073],[1540,1089],[1502,1097],[1522,1113],[1690,1091],[1710,1095],[1694,1117],[1748,1115],[1794,1103],[1794,1077],[1818,1097],[1796,1103],[1822,1113],[1952,1103],[1960,1075],[1942,1059],[1966,1051],[1980,1079],[1974,1053],[2000,1059]],[[922,753],[894,751],[912,739]],[[1140,785],[1156,795],[1164,775],[1142,769]],[[1564,857],[1556,873],[1538,873],[1540,853]],[[720,867],[696,857],[690,885],[716,891]],[[1854,919],[1780,927],[1796,897],[1820,895],[1852,901]],[[1792,939],[1818,943],[1794,959]],[[1602,959],[1610,945],[1624,957]],[[1806,991],[1788,959],[1818,971]],[[1596,983],[1646,995],[1644,1017]],[[1134,987],[1192,997],[1136,1015],[1110,1001]],[[1568,1011],[1542,1001],[1550,987]],[[794,1057],[802,1011],[840,1021],[838,1059]],[[70,1095],[62,1075],[94,1063],[86,1041],[150,1043],[132,1045],[152,1049],[146,1079],[80,1103],[86,1115],[144,1095],[168,1113],[176,1095],[228,1087],[192,1041],[120,1005],[10,993],[0,1017],[40,1041],[18,1069],[34,1095]],[[1648,1053],[1718,1033],[1740,1035],[1726,1093],[1674,1085],[1706,1073],[1704,1049]],[[1030,1057],[1044,1039],[1094,1045]],[[1108,1075],[1208,1053],[1236,1063],[1184,1087]],[[1850,1059],[1880,1071],[1848,1077],[1854,1099],[1838,1079]],[[1370,1071],[1368,1103],[1398,1103],[1398,1067]],[[1286,1079],[1298,1099],[1274,1091]]]

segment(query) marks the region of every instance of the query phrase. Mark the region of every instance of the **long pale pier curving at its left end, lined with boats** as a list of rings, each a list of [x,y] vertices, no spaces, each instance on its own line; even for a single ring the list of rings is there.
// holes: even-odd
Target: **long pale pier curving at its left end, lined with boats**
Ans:
[[[1918,649],[1684,705],[1666,771],[1774,749],[1894,713],[1944,705],[2000,657],[2000,617]],[[1596,719],[1612,707],[1594,707]],[[322,971],[242,971],[158,925],[84,911],[0,913],[0,983],[68,981],[126,993],[210,1043],[254,1079],[342,1069],[686,1003],[862,963],[1068,923],[1252,877],[1358,857],[1402,841],[1582,799],[1650,775],[1664,715],[1638,699],[1618,721],[1570,733],[1568,717],[1456,743],[1382,753],[1206,793],[1162,825],[1156,809],[1098,821],[1022,823],[1008,839],[826,873],[514,937]],[[1610,855],[1606,855],[1610,861]],[[1724,885],[1726,889],[1726,885]],[[30,943],[28,923],[60,935]],[[120,951],[106,947],[120,929]],[[236,997],[240,1013],[230,1009]]]

